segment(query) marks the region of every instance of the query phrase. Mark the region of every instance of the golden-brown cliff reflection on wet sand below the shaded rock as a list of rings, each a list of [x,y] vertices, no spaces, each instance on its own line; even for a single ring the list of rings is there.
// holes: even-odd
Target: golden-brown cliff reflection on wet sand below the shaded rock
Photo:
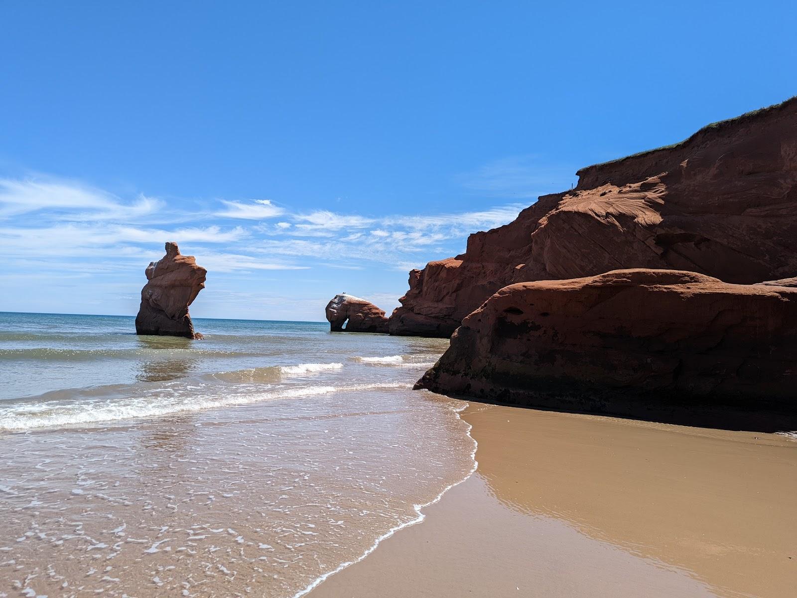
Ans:
[[[720,596],[793,591],[797,443],[475,403],[464,417],[506,506],[691,571]]]

